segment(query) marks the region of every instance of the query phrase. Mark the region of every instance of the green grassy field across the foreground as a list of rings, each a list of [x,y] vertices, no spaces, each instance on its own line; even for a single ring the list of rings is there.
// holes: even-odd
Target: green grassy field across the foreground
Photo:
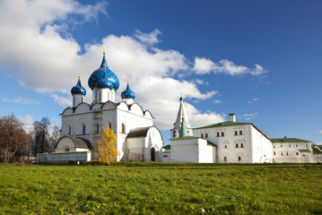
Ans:
[[[322,214],[322,165],[0,165],[0,214]]]

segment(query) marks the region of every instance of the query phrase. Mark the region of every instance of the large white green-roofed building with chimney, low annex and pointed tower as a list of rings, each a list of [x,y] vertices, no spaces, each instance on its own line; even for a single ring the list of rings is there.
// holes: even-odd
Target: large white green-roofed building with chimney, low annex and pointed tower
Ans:
[[[180,109],[183,99],[180,99]],[[179,115],[180,113],[178,113]],[[213,125],[205,125],[194,129],[195,136],[185,133],[182,117],[179,135],[178,117],[171,129],[170,157],[174,162],[219,162],[219,163],[272,163],[272,142],[257,126],[251,123],[239,123],[235,115],[230,115],[230,121]],[[176,131],[176,133],[174,133]]]

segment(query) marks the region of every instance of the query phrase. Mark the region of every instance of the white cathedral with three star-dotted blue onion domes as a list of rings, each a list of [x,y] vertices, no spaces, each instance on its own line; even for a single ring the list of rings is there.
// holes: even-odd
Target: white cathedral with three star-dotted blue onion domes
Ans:
[[[153,126],[153,116],[135,103],[135,92],[127,82],[122,100],[116,102],[119,88],[117,75],[109,70],[103,55],[100,68],[91,73],[88,84],[92,90],[91,104],[84,102],[86,90],[79,77],[72,88],[73,107],[61,114],[61,138],[56,152],[91,150],[91,159],[98,159],[95,143],[99,133],[109,126],[117,137],[117,161],[161,161],[162,136]]]

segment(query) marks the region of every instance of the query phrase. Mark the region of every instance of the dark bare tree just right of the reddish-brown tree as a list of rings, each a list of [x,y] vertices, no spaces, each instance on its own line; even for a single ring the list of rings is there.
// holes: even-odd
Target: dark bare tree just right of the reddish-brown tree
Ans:
[[[48,117],[42,117],[41,121],[35,121],[32,125],[32,143],[33,143],[33,154],[50,152],[51,148],[49,145],[49,126],[50,122]]]

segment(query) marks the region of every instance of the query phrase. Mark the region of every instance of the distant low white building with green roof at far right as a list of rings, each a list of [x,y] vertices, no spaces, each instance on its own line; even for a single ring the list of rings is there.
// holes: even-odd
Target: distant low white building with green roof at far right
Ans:
[[[312,142],[297,138],[273,138],[274,163],[311,163]]]

